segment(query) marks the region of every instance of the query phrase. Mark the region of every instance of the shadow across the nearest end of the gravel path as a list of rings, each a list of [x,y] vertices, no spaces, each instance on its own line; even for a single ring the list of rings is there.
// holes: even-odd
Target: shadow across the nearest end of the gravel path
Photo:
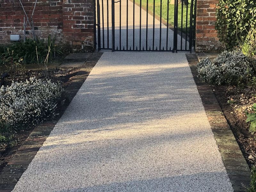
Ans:
[[[108,184],[90,187],[69,188],[58,192],[233,192],[228,179],[223,172],[205,172],[181,176],[171,176],[155,179],[128,180],[124,182],[108,182]],[[243,187],[241,186],[241,189]]]

